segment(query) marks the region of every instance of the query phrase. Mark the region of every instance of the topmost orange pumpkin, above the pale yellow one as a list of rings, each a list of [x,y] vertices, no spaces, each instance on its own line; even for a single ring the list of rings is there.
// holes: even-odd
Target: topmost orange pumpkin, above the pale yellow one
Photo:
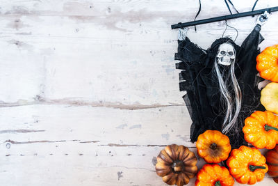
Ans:
[[[256,56],[256,70],[264,79],[278,82],[278,45],[267,47]]]

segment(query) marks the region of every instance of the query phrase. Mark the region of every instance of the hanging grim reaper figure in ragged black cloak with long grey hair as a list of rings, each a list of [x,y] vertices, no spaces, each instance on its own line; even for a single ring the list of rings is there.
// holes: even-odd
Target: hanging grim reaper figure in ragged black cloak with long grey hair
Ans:
[[[175,60],[181,61],[176,68],[182,70],[179,86],[186,91],[183,100],[193,121],[192,142],[205,130],[220,130],[236,148],[244,144],[241,129],[245,118],[263,110],[256,71],[258,45],[263,41],[261,25],[267,19],[262,16],[241,46],[231,38],[220,38],[202,49],[186,37],[187,29],[179,30]]]

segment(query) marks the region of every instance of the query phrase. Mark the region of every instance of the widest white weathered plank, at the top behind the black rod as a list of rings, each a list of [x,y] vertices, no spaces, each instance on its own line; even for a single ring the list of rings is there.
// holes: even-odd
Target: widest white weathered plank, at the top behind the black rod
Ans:
[[[202,3],[199,19],[227,13],[223,2],[218,3],[219,13],[212,12],[216,1]],[[244,11],[250,3],[235,1],[235,6]],[[275,3],[258,3],[258,8]],[[177,31],[170,30],[170,24],[192,20],[197,2],[159,4],[156,10],[157,1],[17,1],[16,6],[3,2],[0,47],[6,52],[1,55],[0,100],[3,104],[73,100],[135,107],[183,104],[179,70],[174,69]],[[263,26],[262,48],[278,41],[277,15],[273,13]],[[239,31],[239,44],[255,20],[229,21]],[[197,33],[190,29],[188,36],[207,48],[224,28],[224,22],[202,25]],[[229,35],[235,37],[236,32],[228,29]]]

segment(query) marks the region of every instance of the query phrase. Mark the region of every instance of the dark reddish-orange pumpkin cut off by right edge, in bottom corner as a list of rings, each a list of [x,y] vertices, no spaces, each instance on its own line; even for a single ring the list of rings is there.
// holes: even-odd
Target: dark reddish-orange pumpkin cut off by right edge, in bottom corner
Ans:
[[[266,164],[268,164],[268,174],[272,176],[275,183],[278,183],[278,145],[274,149],[268,150],[265,158]]]

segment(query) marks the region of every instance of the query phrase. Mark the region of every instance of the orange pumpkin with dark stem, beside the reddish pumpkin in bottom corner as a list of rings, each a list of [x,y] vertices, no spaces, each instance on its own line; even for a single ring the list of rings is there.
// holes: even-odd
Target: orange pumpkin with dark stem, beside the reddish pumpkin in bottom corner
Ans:
[[[265,157],[261,155],[261,152],[247,146],[231,150],[227,166],[229,166],[231,176],[234,176],[238,183],[250,185],[263,180],[268,171],[268,165],[265,164]]]

